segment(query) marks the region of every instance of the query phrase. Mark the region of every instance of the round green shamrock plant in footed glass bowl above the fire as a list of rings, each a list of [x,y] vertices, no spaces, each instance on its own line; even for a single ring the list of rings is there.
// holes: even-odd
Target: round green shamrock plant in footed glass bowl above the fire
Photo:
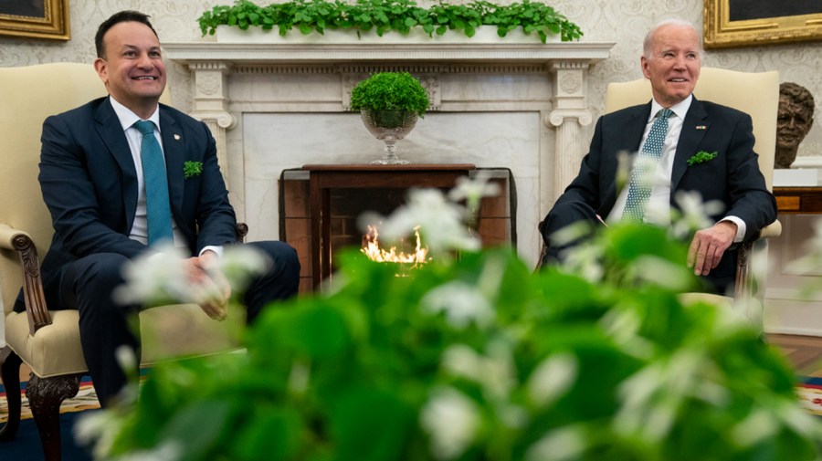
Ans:
[[[428,109],[428,93],[408,72],[378,72],[351,90],[351,109],[365,127],[385,142],[385,157],[376,164],[406,164],[396,156],[395,142],[406,137]]]

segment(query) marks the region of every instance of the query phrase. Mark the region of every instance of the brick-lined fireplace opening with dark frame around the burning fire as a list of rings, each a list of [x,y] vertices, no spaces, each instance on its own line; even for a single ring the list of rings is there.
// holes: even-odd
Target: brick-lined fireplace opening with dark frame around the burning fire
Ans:
[[[300,292],[311,292],[320,287],[321,280],[332,278],[337,251],[367,244],[368,230],[361,226],[361,215],[391,215],[405,204],[411,187],[437,184],[443,192],[453,187],[459,174],[438,176],[441,170],[430,170],[435,166],[440,165],[306,165],[284,171],[279,181],[279,238],[300,256]],[[499,184],[501,194],[482,199],[477,226],[480,241],[484,247],[516,245],[516,195],[511,172],[504,168],[486,170],[490,181]],[[478,171],[469,165],[461,174]],[[413,254],[416,242],[406,240],[397,251]]]

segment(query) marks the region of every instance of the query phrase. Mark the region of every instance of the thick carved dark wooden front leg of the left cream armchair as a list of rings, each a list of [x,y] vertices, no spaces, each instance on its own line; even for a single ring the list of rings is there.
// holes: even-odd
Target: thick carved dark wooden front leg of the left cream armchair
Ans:
[[[46,461],[60,460],[60,403],[77,395],[81,377],[75,374],[38,378],[32,373],[28,380],[26,396],[37,423]]]

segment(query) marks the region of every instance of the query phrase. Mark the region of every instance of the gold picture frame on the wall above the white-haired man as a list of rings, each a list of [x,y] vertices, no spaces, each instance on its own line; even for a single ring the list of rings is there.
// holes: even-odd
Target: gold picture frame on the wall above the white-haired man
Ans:
[[[822,39],[819,0],[705,0],[703,16],[706,48]]]

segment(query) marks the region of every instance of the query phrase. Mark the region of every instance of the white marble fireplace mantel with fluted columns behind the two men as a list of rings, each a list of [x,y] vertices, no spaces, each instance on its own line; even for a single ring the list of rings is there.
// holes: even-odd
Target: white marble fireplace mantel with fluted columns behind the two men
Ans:
[[[192,115],[217,142],[249,239],[278,238],[276,183],[306,163],[368,162],[382,143],[348,110],[369,73],[407,70],[431,110],[397,144],[412,162],[506,167],[517,187],[518,249],[536,262],[536,225],[576,173],[591,123],[587,73],[613,43],[167,43],[194,76]]]

